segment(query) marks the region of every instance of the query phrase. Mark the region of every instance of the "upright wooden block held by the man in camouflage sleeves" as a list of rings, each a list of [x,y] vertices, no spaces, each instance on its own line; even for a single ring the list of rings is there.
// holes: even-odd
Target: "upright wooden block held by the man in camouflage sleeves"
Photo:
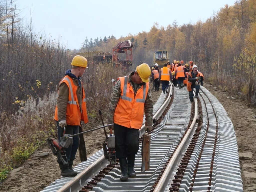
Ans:
[[[150,168],[150,134],[144,134],[142,140],[142,162],[141,171],[147,171]]]

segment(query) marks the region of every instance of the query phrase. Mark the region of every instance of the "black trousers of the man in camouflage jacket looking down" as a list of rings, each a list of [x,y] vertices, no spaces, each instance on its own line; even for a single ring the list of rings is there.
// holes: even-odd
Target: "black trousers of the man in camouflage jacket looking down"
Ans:
[[[116,157],[135,159],[139,150],[139,130],[114,124],[114,134]]]

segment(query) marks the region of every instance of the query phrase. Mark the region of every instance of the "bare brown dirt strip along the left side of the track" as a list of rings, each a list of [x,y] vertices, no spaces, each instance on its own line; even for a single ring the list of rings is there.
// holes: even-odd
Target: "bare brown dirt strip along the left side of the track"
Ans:
[[[161,90],[157,92],[152,91],[152,99],[154,103],[157,101],[160,94]],[[90,121],[88,124],[91,125],[91,128],[87,126],[87,129],[93,129],[96,127],[95,125],[101,126],[100,122],[99,119],[98,121]],[[101,149],[104,140],[105,136],[103,129],[84,134],[87,157]],[[49,155],[40,157],[42,152],[49,152]],[[79,154],[77,152],[74,166],[79,163]],[[10,171],[7,179],[0,184],[0,191],[38,192],[60,176],[57,157],[52,154],[48,145],[44,145],[31,155],[24,164]]]

